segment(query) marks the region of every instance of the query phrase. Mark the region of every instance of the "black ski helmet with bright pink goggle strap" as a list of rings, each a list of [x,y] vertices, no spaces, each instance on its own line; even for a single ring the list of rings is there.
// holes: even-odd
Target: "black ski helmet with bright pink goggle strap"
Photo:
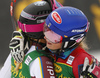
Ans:
[[[29,37],[43,38],[43,24],[51,11],[52,8],[46,1],[31,3],[21,12],[18,26]]]

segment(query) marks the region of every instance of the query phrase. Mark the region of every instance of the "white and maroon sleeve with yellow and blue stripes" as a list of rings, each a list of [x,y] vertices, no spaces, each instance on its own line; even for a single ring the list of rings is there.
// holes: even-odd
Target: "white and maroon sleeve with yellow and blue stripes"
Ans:
[[[45,56],[38,57],[30,64],[32,78],[56,78],[53,63]]]

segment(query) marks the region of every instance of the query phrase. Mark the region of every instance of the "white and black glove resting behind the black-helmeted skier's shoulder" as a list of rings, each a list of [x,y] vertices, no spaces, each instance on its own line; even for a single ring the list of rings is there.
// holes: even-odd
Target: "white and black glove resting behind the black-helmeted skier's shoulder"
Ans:
[[[24,41],[24,37],[21,32],[14,31],[12,39],[9,44],[12,57],[17,63],[21,63],[24,59],[24,51],[29,50],[28,41]],[[25,46],[25,47],[24,47]]]

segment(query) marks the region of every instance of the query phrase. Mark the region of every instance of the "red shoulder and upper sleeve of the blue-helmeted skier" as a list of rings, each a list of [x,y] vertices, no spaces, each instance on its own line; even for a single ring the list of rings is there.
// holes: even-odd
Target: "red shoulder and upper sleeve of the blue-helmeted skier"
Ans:
[[[87,57],[89,62],[92,62],[92,56],[88,54],[84,49],[81,47],[76,48],[69,57],[73,57],[72,67],[73,67],[73,74],[76,78],[79,78],[80,71],[82,70],[84,59]],[[68,58],[69,58],[68,57]]]

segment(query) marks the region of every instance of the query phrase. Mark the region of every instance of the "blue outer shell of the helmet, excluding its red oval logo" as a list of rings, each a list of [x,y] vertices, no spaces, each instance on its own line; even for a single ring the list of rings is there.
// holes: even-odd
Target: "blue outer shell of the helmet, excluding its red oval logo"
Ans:
[[[54,21],[53,12],[57,12],[61,17],[62,22],[60,24]],[[63,38],[86,34],[88,19],[81,10],[74,7],[60,7],[53,12],[46,19],[46,24],[52,31]]]

